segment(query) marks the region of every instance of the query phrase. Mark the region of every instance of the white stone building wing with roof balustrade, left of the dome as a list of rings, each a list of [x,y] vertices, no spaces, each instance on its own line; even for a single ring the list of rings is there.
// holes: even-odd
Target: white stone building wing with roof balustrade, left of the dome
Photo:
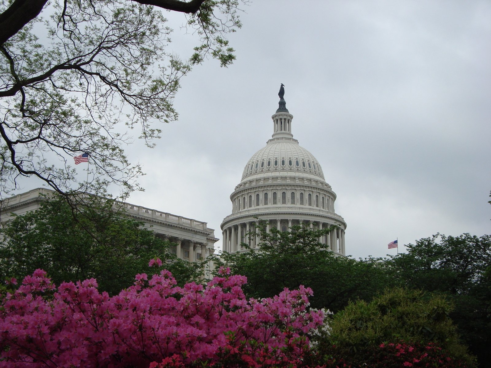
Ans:
[[[51,189],[37,188],[26,193],[6,198],[1,203],[0,220],[8,221],[10,213],[25,214],[37,210],[42,201],[52,196]],[[206,222],[174,215],[172,213],[136,206],[126,202],[117,202],[115,209],[123,209],[131,218],[144,223],[145,228],[156,236],[176,243],[171,251],[179,258],[194,262],[206,258],[215,252],[215,230],[208,228]],[[210,264],[208,268],[212,268]]]

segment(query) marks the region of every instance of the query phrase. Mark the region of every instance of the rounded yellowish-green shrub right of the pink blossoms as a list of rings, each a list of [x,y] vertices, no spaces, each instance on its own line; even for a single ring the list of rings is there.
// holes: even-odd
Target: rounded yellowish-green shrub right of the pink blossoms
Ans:
[[[370,303],[350,302],[334,315],[321,350],[329,351],[335,345],[338,353],[365,354],[382,342],[434,342],[452,357],[473,364],[449,317],[451,310],[451,304],[441,296],[388,289]]]

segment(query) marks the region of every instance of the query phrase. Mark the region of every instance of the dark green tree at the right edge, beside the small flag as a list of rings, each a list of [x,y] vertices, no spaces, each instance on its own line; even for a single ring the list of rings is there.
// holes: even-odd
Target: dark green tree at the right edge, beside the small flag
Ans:
[[[459,334],[482,367],[491,361],[491,237],[435,235],[387,261],[401,285],[441,293],[455,309]]]

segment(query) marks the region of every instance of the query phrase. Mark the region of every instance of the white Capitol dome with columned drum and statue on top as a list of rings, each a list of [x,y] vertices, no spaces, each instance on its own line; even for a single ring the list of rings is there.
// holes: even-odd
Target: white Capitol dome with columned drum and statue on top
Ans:
[[[242,181],[230,195],[232,214],[223,219],[223,251],[239,252],[241,242],[256,247],[259,239],[247,237],[255,233],[257,218],[290,231],[294,225],[338,229],[319,239],[327,249],[345,255],[346,222],[334,212],[336,194],[326,183],[321,165],[293,138],[293,115],[286,109],[280,89],[279,107],[273,114],[273,136],[265,147],[247,162]]]

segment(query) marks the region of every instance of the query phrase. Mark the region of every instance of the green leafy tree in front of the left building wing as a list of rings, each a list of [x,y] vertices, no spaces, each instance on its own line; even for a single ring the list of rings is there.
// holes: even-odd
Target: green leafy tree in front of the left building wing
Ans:
[[[137,273],[149,272],[154,257],[180,284],[201,274],[202,263],[178,259],[168,241],[111,205],[91,201],[73,212],[59,196],[36,211],[14,216],[0,229],[2,279],[22,280],[41,268],[56,284],[94,277],[102,290],[113,294],[133,285]]]

